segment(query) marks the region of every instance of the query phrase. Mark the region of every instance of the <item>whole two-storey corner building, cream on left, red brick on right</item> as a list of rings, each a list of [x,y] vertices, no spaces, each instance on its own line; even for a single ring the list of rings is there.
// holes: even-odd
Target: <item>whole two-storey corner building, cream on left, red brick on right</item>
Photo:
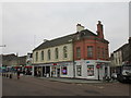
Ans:
[[[76,33],[45,40],[33,50],[34,75],[103,79],[109,75],[108,41],[103,25],[97,34],[76,25]]]

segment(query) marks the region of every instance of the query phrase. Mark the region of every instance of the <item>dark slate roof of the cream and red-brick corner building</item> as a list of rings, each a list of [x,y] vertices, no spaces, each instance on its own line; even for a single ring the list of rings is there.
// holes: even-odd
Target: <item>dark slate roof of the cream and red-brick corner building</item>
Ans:
[[[78,35],[78,34],[81,34],[81,36],[84,36],[84,37],[88,37],[88,36],[97,37],[97,35],[94,34],[93,32],[91,32],[88,29],[84,29],[80,33],[74,33],[74,34],[59,37],[59,38],[56,38],[52,40],[47,40],[47,41],[43,42],[41,45],[39,45],[38,47],[36,47],[33,51],[49,48],[49,47],[55,47],[55,46],[59,46],[59,45],[63,45],[63,44],[70,44],[70,42],[72,42],[71,39],[74,38],[75,35]]]

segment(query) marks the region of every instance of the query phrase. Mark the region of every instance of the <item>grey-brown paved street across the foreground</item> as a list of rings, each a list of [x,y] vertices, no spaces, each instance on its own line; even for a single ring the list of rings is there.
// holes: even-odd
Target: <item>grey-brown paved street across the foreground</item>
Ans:
[[[121,83],[74,84],[21,76],[3,77],[3,96],[129,96],[129,85]]]

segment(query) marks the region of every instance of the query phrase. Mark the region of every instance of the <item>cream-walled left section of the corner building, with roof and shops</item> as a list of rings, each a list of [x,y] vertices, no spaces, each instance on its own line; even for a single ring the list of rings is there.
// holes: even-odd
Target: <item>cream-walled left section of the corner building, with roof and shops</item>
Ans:
[[[34,75],[73,77],[72,35],[46,40],[33,50]]]

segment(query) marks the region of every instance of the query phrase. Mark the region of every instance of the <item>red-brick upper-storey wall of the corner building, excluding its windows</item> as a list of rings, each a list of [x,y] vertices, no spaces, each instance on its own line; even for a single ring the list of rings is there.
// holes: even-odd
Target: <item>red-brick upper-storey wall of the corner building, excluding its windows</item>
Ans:
[[[93,46],[93,58],[87,57],[87,46]],[[108,44],[102,42],[95,39],[82,39],[74,42],[74,60],[80,60],[76,58],[76,47],[81,48],[81,58],[84,60],[108,60]],[[98,47],[100,48],[100,57],[98,58]],[[102,48],[104,48],[105,57],[102,54]]]

